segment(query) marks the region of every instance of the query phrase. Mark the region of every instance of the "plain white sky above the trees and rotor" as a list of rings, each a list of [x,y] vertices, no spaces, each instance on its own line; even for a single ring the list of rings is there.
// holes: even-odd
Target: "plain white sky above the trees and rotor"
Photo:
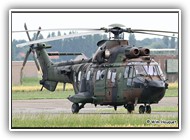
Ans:
[[[54,10],[52,10],[54,11]],[[59,10],[58,10],[59,11]],[[59,11],[60,12],[60,11]],[[136,11],[135,11],[136,12]],[[29,30],[52,28],[101,28],[119,23],[126,28],[178,31],[177,13],[12,13],[12,31],[24,30],[24,23]],[[57,32],[57,31],[55,31]],[[34,32],[31,32],[32,36]],[[47,37],[49,32],[43,32]],[[61,32],[63,35],[63,32]],[[172,34],[170,34],[172,35]],[[128,35],[126,35],[126,38]],[[136,39],[159,36],[135,34]],[[13,33],[12,39],[27,39],[26,33]]]

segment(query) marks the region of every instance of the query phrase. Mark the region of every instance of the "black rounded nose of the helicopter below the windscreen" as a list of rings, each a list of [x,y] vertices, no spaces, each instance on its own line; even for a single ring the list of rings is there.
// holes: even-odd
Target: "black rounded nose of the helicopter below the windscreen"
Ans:
[[[145,80],[145,88],[142,92],[141,99],[147,103],[159,102],[165,94],[166,83],[164,81]]]

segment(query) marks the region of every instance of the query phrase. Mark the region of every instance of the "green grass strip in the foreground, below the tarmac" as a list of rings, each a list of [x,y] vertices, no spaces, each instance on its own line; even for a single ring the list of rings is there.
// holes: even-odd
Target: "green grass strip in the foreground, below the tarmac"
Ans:
[[[178,118],[152,114],[14,114],[12,127],[178,127]]]

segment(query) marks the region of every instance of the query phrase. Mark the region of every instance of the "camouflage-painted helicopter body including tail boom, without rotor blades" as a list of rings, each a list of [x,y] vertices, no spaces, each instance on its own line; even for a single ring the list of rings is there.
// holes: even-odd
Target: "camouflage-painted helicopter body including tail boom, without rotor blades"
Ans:
[[[158,103],[163,98],[168,84],[149,49],[129,46],[127,40],[102,40],[97,45],[91,59],[52,63],[45,50],[49,46],[38,44],[35,50],[43,72],[40,84],[55,91],[58,82],[71,83],[75,95],[68,99],[79,108],[74,113],[85,103],[115,109],[132,105],[132,109],[127,108],[130,112],[134,104]],[[153,75],[148,73],[149,68]],[[144,69],[143,74],[138,75],[138,69]]]

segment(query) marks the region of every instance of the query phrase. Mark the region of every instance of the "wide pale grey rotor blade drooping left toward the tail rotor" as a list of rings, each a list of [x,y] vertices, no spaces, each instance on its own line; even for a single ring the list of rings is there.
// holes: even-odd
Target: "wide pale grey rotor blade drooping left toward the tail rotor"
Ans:
[[[16,46],[17,47],[24,47],[26,45],[31,45],[31,44],[44,43],[44,42],[49,42],[49,41],[54,41],[54,40],[60,40],[60,39],[66,39],[66,38],[74,38],[74,37],[80,37],[80,36],[85,36],[85,35],[102,34],[102,33],[105,33],[105,31],[94,31],[94,32],[70,34],[70,35],[64,35],[64,36],[56,36],[56,37],[52,37],[52,38],[46,38],[46,39],[41,39],[41,40],[30,41],[30,42],[18,44]]]

